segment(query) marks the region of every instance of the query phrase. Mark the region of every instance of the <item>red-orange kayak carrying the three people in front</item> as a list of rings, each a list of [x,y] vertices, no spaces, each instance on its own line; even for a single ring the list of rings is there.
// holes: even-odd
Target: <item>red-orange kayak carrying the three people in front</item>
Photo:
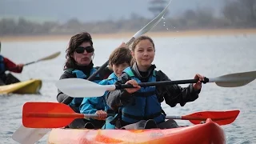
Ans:
[[[210,118],[203,124],[173,129],[148,130],[86,130],[53,129],[48,137],[49,144],[224,144],[226,142],[221,126]]]

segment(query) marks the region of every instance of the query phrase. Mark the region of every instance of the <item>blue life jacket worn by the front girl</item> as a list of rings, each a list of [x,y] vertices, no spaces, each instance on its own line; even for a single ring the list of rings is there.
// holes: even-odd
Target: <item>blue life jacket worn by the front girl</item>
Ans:
[[[134,76],[130,67],[127,67],[123,72],[138,83],[141,82]],[[155,70],[148,82],[156,82]],[[129,104],[122,106],[122,121],[134,123],[148,119],[154,119],[157,123],[164,122],[166,119],[166,115],[162,113],[161,103],[158,102],[155,86],[142,87],[133,94],[133,99]]]

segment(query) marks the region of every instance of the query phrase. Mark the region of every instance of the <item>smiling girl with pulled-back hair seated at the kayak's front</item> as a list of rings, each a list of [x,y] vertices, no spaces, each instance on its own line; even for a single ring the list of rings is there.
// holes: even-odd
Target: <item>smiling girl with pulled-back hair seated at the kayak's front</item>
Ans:
[[[130,84],[135,88],[113,90],[106,95],[106,103],[113,110],[119,110],[118,116],[112,123],[117,128],[126,130],[160,128],[168,129],[178,127],[174,120],[166,121],[166,114],[162,110],[161,102],[164,100],[171,107],[178,103],[184,106],[186,102],[193,102],[198,98],[203,76],[196,74],[199,79],[195,84],[185,88],[178,85],[140,87],[140,82],[170,81],[161,70],[154,70],[155,46],[150,37],[141,36],[134,40],[132,46],[134,65],[127,67],[118,83]]]

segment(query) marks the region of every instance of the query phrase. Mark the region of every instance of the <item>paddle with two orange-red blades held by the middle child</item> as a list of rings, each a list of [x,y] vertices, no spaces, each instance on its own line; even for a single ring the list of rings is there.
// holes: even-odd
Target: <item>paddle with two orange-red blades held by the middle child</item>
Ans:
[[[185,116],[167,116],[166,119],[189,120],[198,124],[211,118],[219,125],[234,122],[239,110],[230,111],[202,111]],[[30,128],[59,128],[73,122],[75,118],[97,118],[97,114],[78,114],[62,103],[57,102],[26,102],[22,111],[23,126]]]

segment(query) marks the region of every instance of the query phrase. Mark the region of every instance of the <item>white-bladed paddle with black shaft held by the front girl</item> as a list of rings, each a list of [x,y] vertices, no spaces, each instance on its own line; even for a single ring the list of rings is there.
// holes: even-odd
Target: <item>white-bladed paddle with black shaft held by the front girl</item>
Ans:
[[[217,86],[222,87],[236,87],[244,86],[256,78],[256,71],[249,71],[243,73],[226,74],[217,78],[204,78],[203,83],[215,82]],[[178,81],[162,81],[162,82],[145,82],[139,83],[139,86],[161,86],[196,83],[198,79],[178,80]],[[66,78],[56,82],[58,90],[64,94],[70,95],[74,98],[89,98],[101,97],[106,90],[116,90],[133,87],[131,85],[98,85],[97,83],[87,81],[81,78]]]

